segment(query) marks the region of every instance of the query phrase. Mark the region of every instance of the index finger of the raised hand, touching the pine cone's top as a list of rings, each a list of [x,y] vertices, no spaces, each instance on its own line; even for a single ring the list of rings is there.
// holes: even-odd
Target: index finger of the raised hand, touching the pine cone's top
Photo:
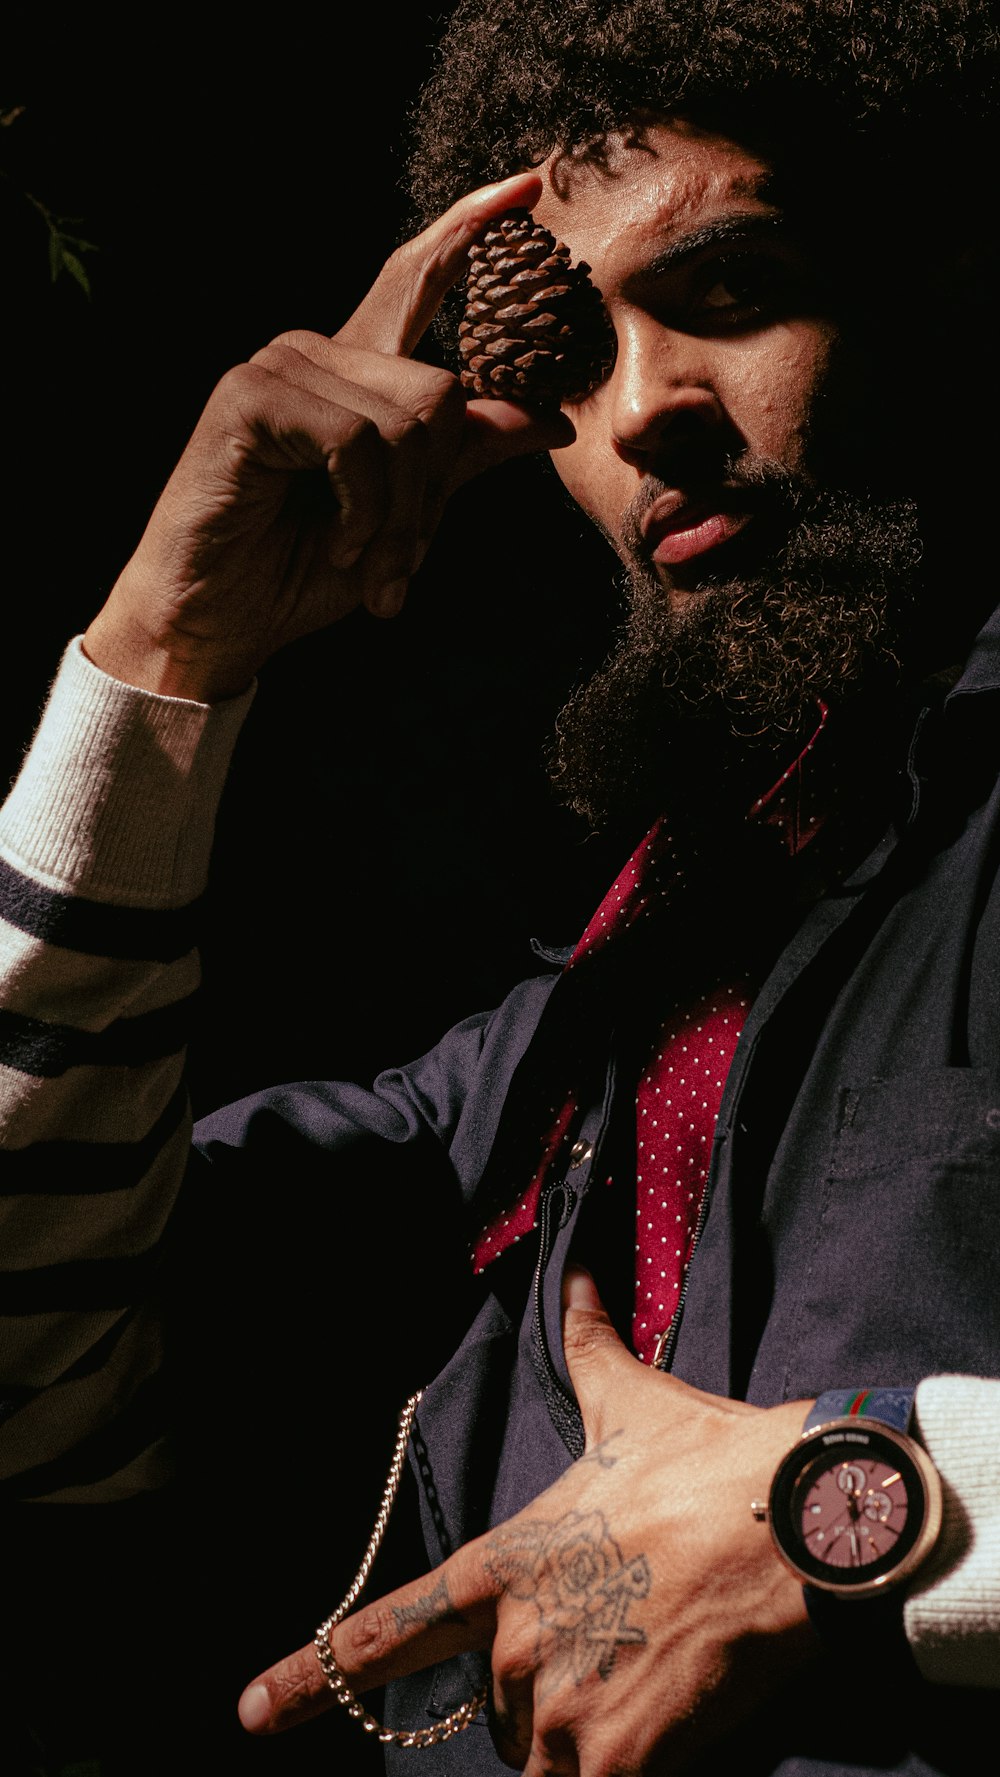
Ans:
[[[467,265],[469,247],[506,210],[531,208],[542,195],[536,172],[515,172],[460,197],[412,240],[396,247],[352,318],[334,334],[341,345],[409,357]]]

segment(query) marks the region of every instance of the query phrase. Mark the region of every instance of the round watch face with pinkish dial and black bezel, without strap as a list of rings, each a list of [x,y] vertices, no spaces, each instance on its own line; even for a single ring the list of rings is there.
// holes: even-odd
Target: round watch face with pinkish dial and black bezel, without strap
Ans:
[[[888,1427],[853,1420],[821,1425],[789,1452],[771,1489],[771,1528],[806,1583],[874,1590],[924,1553],[929,1491],[913,1450]]]

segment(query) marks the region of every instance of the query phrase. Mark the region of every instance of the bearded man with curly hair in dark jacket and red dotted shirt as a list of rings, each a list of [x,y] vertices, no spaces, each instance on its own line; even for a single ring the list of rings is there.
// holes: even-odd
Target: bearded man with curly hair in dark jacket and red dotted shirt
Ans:
[[[970,171],[995,55],[966,5],[460,5],[417,126],[433,220],[332,341],[224,379],[67,654],[0,830],[37,1288],[11,1427],[28,1496],[50,1462],[99,1500],[162,1461],[130,1411],[190,1146],[163,1009],[254,673],[359,604],[394,615],[448,496],[520,451],[552,450],[629,576],[552,746],[563,798],[632,835],[579,942],[371,1093],[281,1088],[195,1132],[188,1240],[217,1178],[361,1155],[387,1221],[416,1205],[428,1247],[458,1226],[476,1278],[387,1487],[409,1448],[433,1571],[348,1612],[352,1587],[243,1693],[254,1734],[387,1686],[393,1770],[414,1745],[531,1777],[979,1768],[1000,675]],[[591,267],[613,327],[561,414],[465,403],[412,355],[510,210]],[[55,1024],[71,1093],[41,1066]],[[53,1137],[115,1166],[82,1233],[32,1198]],[[53,1306],[50,1272],[96,1260]],[[110,1422],[119,1466],[75,1473],[66,1425]]]

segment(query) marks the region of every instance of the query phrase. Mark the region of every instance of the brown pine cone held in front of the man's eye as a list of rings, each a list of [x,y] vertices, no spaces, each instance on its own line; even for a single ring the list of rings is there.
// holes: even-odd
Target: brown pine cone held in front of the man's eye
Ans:
[[[572,265],[568,247],[529,210],[497,217],[469,259],[462,387],[538,407],[583,402],[615,363],[615,332],[590,267]]]

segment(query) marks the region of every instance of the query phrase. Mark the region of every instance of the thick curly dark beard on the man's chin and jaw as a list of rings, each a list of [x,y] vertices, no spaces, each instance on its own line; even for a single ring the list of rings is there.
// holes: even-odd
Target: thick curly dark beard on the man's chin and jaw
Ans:
[[[641,554],[638,519],[663,483],[648,478],[625,515],[627,622],[549,752],[560,801],[593,832],[663,809],[703,817],[707,794],[716,809],[728,784],[742,794],[762,752],[812,732],[819,702],[885,704],[922,656],[915,503],[817,492],[760,460],[737,480],[764,499],[757,530],[773,517],[785,540],[750,574],[702,581],[680,611]]]

